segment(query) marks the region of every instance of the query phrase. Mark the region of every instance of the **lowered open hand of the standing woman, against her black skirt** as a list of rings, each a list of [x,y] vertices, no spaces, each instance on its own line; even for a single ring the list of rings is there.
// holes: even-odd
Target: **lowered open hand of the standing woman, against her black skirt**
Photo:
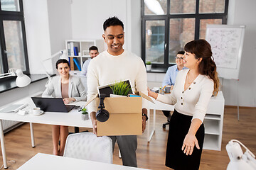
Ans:
[[[196,136],[192,134],[187,134],[183,141],[181,150],[183,150],[184,154],[191,155],[193,153],[193,148],[195,147],[195,145],[197,149],[200,149]]]

